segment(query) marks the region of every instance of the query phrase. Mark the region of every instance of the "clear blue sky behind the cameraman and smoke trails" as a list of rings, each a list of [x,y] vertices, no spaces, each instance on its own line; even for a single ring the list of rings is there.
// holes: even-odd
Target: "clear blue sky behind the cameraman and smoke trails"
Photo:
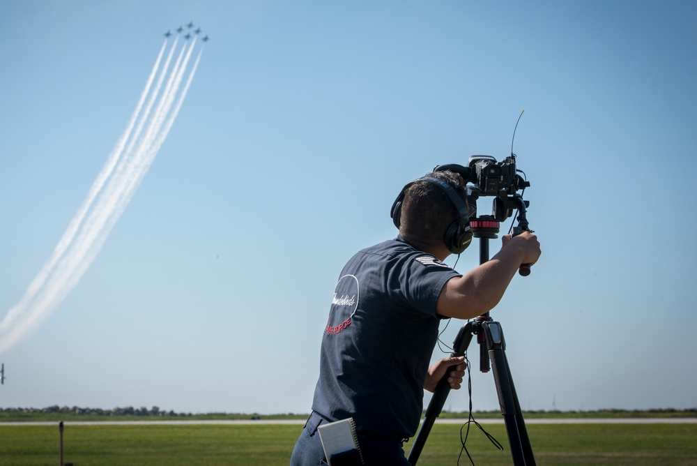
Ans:
[[[0,12],[0,320],[125,130],[162,34],[192,21],[211,38],[82,280],[0,354],[0,407],[309,412],[344,262],[396,235],[389,210],[408,181],[509,155],[522,110],[514,152],[543,255],[491,315],[523,409],[697,406],[694,2]],[[473,405],[497,409],[475,356]],[[467,405],[463,390],[445,408]]]

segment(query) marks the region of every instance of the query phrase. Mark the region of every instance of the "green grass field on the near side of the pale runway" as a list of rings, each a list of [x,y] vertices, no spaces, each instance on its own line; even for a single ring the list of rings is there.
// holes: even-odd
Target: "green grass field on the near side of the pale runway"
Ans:
[[[300,425],[95,425],[67,424],[63,461],[75,466],[288,465]],[[475,465],[511,465],[503,424],[484,429],[505,446],[498,451],[470,428]],[[436,424],[419,465],[457,465],[460,428]],[[538,465],[697,466],[697,424],[529,424]],[[408,451],[411,444],[405,445]],[[0,465],[59,464],[59,428],[3,426]],[[460,465],[469,465],[464,455]]]

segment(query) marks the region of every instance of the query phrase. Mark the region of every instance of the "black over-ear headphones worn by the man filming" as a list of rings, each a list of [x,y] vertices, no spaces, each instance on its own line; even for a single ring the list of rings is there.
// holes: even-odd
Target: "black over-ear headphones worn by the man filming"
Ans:
[[[460,174],[464,178],[465,182],[468,181],[471,172],[468,167],[455,164],[438,165],[438,167],[434,169],[434,172],[443,172],[445,170]],[[454,220],[454,222],[451,223],[447,229],[445,229],[445,236],[443,237],[443,240],[445,241],[447,250],[449,250],[451,253],[462,253],[464,250],[466,250],[467,246],[470,246],[470,242],[472,241],[472,231],[470,230],[470,218],[467,213],[467,205],[465,204],[464,200],[457,195],[454,188],[452,188],[452,186],[450,186],[448,183],[445,183],[445,181],[433,178],[432,176],[423,176],[422,178],[414,180],[404,186],[401,193],[399,193],[399,196],[397,196],[394,204],[392,204],[392,209],[390,210],[390,217],[392,217],[392,222],[395,223],[395,227],[399,228],[399,224],[401,222],[401,203],[404,201],[404,195],[406,195],[406,191],[416,181],[427,181],[434,184],[441,188],[445,194],[447,194],[447,197],[450,198],[450,202],[452,202],[452,205],[454,205],[455,209],[457,209],[459,217],[457,220]]]

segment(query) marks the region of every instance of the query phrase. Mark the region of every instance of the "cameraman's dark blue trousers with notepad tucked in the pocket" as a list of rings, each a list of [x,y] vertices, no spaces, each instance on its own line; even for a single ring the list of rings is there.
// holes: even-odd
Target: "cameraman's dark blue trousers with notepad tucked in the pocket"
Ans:
[[[322,442],[317,433],[317,427],[323,422],[327,421],[319,414],[313,412],[309,416],[293,449],[291,466],[327,464]],[[408,460],[404,458],[404,449],[402,449],[400,440],[358,433],[358,444],[365,460],[365,466],[410,466]]]

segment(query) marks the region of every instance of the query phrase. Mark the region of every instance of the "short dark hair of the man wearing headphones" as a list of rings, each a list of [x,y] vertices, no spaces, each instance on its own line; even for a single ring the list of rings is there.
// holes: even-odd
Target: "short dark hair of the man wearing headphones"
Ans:
[[[426,176],[450,185],[467,204],[466,182],[462,176],[447,170]],[[458,218],[457,208],[442,188],[418,179],[404,193],[399,231],[402,236],[417,239],[429,246],[441,246],[445,244],[445,230]]]

